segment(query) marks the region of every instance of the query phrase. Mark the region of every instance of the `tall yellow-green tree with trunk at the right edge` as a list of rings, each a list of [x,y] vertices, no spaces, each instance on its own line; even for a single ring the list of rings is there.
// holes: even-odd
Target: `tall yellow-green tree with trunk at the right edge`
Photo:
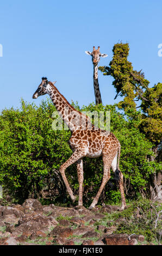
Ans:
[[[148,166],[152,169],[150,175],[150,191],[154,193],[153,198],[161,196],[161,94],[162,84],[158,83],[149,88],[149,81],[146,80],[142,70],[133,69],[132,63],[128,61],[129,45],[118,43],[113,47],[113,59],[109,66],[100,66],[99,70],[103,75],[114,77],[113,86],[116,89],[116,96],[122,96],[117,106],[123,109],[130,119],[136,119],[140,132],[152,143],[151,154],[147,156]],[[137,102],[140,103],[137,106]],[[140,108],[140,111],[137,111]]]

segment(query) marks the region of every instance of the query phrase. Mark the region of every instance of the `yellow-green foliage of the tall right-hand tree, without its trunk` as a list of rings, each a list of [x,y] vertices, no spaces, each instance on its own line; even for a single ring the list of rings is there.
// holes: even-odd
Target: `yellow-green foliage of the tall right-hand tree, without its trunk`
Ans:
[[[146,80],[144,72],[133,70],[132,63],[128,61],[129,45],[118,43],[113,47],[113,59],[109,66],[101,66],[99,70],[103,75],[114,77],[113,86],[117,95],[123,96],[117,106],[124,109],[129,115],[136,111],[136,102],[141,100],[141,113],[139,125],[146,137],[155,144],[159,144],[162,135],[161,125],[161,95],[162,84],[155,84],[148,88],[149,81]],[[115,97],[115,98],[116,98]],[[132,116],[134,117],[134,116]]]

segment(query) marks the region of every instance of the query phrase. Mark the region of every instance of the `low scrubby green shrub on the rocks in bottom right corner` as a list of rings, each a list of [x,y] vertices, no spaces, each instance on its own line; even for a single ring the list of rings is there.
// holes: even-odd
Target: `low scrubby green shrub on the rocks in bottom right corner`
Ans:
[[[144,235],[149,242],[157,240],[162,228],[161,209],[160,204],[148,200],[134,202],[128,209],[115,214],[114,220],[120,220],[116,233]]]

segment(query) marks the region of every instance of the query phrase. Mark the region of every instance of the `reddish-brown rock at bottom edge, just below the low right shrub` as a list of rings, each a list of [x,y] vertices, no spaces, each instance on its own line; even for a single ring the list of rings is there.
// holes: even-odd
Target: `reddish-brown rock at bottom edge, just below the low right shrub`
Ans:
[[[112,234],[104,237],[106,245],[128,245],[128,236],[126,234]]]

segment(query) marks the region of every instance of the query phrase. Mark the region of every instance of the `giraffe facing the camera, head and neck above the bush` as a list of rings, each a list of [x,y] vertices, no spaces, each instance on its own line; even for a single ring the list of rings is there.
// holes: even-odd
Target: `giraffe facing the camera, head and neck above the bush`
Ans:
[[[101,93],[99,90],[99,83],[98,83],[98,62],[100,60],[100,57],[107,57],[107,54],[101,53],[99,52],[99,46],[98,49],[95,50],[95,46],[93,47],[93,51],[89,52],[89,51],[85,51],[86,54],[91,55],[92,56],[92,63],[94,65],[94,90],[95,90],[95,99],[96,99],[96,105],[98,105],[99,103],[102,103],[102,99],[101,99]]]

